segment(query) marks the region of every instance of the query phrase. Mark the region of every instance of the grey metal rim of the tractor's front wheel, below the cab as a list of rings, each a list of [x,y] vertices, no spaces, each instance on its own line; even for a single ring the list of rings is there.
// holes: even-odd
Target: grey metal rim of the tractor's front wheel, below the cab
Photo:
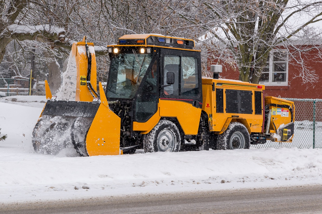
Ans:
[[[165,129],[160,132],[157,139],[159,151],[173,151],[175,149],[175,135],[172,131]]]

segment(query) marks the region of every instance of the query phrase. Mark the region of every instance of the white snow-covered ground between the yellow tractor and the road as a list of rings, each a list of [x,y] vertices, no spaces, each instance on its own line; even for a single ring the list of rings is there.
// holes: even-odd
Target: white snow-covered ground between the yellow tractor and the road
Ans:
[[[209,150],[77,157],[36,154],[44,97],[0,98],[0,202],[322,184],[322,149]]]

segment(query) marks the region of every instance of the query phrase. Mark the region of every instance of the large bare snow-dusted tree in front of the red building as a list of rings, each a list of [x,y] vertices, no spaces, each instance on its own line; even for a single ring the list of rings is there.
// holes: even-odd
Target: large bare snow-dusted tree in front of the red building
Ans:
[[[213,58],[236,64],[242,81],[259,82],[272,50],[279,56],[279,50],[286,49],[289,58],[295,59],[296,54],[321,48],[320,29],[310,27],[321,20],[321,1],[218,0],[204,4],[209,9],[206,15],[218,23],[201,42],[215,52]],[[303,60],[297,63],[302,65],[303,83],[318,80]]]

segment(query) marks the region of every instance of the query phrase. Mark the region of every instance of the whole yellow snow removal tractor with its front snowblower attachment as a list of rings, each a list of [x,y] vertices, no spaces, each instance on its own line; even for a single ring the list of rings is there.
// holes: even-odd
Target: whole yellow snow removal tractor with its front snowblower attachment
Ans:
[[[74,43],[76,100],[58,100],[46,82],[33,130],[36,152],[74,147],[81,156],[212,149],[248,149],[267,140],[291,142],[294,103],[265,97],[264,86],[202,77],[192,39],[124,35],[107,46],[106,89],[97,90],[94,44]]]

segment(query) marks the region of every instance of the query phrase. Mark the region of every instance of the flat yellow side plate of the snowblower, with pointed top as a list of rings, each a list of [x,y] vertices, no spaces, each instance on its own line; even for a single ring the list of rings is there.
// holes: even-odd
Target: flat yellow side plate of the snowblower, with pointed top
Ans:
[[[121,118],[109,109],[99,82],[101,104],[86,136],[86,150],[93,155],[120,155]]]

